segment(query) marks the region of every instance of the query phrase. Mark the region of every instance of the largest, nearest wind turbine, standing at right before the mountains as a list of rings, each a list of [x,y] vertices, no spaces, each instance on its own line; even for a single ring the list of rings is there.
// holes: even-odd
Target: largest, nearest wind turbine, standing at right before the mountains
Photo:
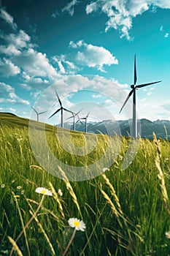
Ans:
[[[128,99],[131,97],[133,94],[133,129],[132,129],[132,135],[134,138],[137,137],[137,121],[136,121],[136,90],[139,88],[142,88],[144,86],[150,86],[151,84],[154,83],[160,83],[161,81],[158,82],[152,82],[152,83],[143,83],[139,84],[136,86],[136,81],[137,81],[137,75],[136,75],[136,54],[134,56],[134,84],[131,85],[131,91],[128,94],[127,99],[125,99],[125,102],[123,104],[123,107],[125,106],[125,103],[128,101]],[[123,110],[123,107],[120,109],[120,112]]]

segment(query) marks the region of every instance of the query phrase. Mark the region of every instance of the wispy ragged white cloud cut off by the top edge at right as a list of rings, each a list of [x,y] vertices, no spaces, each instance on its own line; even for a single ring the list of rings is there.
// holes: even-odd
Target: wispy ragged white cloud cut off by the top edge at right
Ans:
[[[152,8],[170,8],[169,0],[96,0],[86,6],[86,13],[103,12],[107,15],[105,31],[117,29],[120,37],[131,39],[129,31],[132,27],[133,18],[142,15],[143,12]]]

